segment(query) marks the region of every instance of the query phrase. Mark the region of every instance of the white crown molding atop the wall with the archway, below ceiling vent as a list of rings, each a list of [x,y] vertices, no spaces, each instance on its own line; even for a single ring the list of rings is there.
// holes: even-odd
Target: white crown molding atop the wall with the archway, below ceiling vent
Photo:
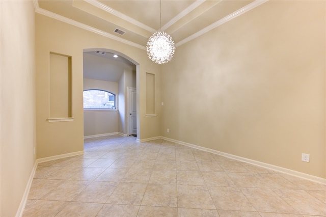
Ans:
[[[37,2],[37,0],[35,0],[34,2]],[[38,4],[34,4],[34,7],[37,6],[38,7]],[[77,22],[75,20],[72,20],[72,19],[69,19],[67,17],[64,17],[64,16],[61,16],[61,15],[58,15],[56,13],[53,13],[53,12],[50,12],[50,11],[47,11],[45,9],[42,9],[40,7],[38,7],[36,10],[35,10],[36,13],[39,13],[39,14],[42,14],[44,16],[48,16],[48,17],[51,17],[53,19],[57,19],[59,21],[62,21],[62,22],[65,22],[65,23],[68,23],[68,24],[71,24],[71,25],[74,25],[74,26],[77,26],[81,29],[84,29],[84,30],[88,30],[90,32],[93,32],[93,33],[96,33],[96,34],[99,34],[99,35],[102,35],[104,37],[107,37],[107,38],[110,38],[110,39],[113,39],[113,40],[116,40],[116,41],[119,41],[119,42],[122,42],[124,44],[128,44],[130,46],[133,46],[133,47],[137,47],[137,48],[140,48],[140,49],[143,49],[143,50],[146,50],[146,47],[143,46],[143,45],[140,45],[140,44],[137,44],[137,43],[134,43],[134,42],[131,42],[131,41],[128,41],[126,39],[122,39],[122,38],[119,38],[118,36],[115,36],[115,35],[112,35],[110,33],[106,33],[104,31],[101,31],[101,30],[98,30],[96,28],[93,28],[89,25],[86,25],[86,24],[83,24],[83,23],[80,23],[80,22]]]

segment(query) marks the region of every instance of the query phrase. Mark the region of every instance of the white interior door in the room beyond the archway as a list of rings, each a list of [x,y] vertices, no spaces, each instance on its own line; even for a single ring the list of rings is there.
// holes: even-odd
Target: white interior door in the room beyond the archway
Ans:
[[[128,134],[137,134],[136,89],[128,87]]]

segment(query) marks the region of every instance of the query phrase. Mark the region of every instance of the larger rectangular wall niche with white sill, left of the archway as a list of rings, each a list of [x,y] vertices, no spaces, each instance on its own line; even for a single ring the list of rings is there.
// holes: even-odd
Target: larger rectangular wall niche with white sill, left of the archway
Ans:
[[[50,52],[49,119],[72,117],[71,57]]]

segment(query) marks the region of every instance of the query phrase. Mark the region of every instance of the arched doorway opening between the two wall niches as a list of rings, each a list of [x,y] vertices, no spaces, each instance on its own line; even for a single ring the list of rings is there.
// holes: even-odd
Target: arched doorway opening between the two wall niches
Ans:
[[[133,118],[136,123],[132,123],[128,107],[129,90],[139,91],[138,70],[137,62],[116,50],[105,48],[83,50],[84,90],[98,89],[112,92],[116,94],[117,100],[117,107],[113,110],[84,109],[84,138],[117,133],[126,136],[132,132],[131,125],[136,126],[135,131],[139,138],[140,129],[137,127],[140,126],[139,111],[135,112]],[[139,105],[138,97],[134,101]]]

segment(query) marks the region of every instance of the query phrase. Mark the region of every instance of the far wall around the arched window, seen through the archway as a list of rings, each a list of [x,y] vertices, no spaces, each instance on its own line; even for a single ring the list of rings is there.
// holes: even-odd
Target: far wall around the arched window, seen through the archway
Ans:
[[[119,94],[117,82],[84,78],[84,90],[89,89],[105,90],[117,96]],[[118,132],[118,116],[117,110],[84,110],[84,137]]]

